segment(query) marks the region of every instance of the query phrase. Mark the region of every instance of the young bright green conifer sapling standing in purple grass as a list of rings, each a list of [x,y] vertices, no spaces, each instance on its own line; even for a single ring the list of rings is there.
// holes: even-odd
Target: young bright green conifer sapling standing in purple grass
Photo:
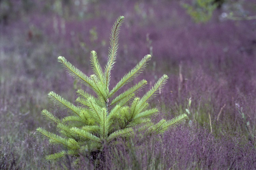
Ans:
[[[75,80],[90,87],[97,97],[86,91],[77,90],[77,106],[63,99],[55,92],[49,92],[48,96],[63,108],[68,109],[70,116],[62,119],[57,118],[47,110],[42,115],[57,125],[60,135],[48,132],[42,128],[37,131],[49,139],[53,145],[62,145],[63,150],[46,156],[48,160],[57,160],[66,155],[79,156],[83,152],[100,151],[104,145],[118,137],[129,138],[135,132],[143,132],[145,135],[163,133],[170,126],[177,125],[185,120],[186,114],[171,120],[162,119],[154,124],[151,116],[158,113],[157,108],[149,108],[148,101],[154,97],[158,90],[166,83],[168,76],[163,75],[156,84],[139,98],[135,94],[146,84],[141,80],[133,87],[113,98],[115,93],[128,82],[137,77],[145,68],[151,55],[145,55],[142,60],[115,85],[109,89],[110,75],[113,69],[118,49],[119,28],[124,20],[120,16],[114,23],[110,34],[110,48],[108,63],[101,68],[95,51],[90,53],[90,62],[94,74],[89,77],[74,67],[64,57],[59,56],[58,62],[74,77]]]

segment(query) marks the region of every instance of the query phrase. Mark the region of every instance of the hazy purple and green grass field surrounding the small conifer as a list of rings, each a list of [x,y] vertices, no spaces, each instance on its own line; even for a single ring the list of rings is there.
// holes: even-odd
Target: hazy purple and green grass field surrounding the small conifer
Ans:
[[[192,4],[188,0],[0,0],[0,169],[256,169],[256,3],[222,2],[199,22],[184,7]],[[68,113],[47,94],[54,91],[72,103],[77,89],[95,95],[57,58],[90,75],[95,50],[103,67],[112,24],[121,15],[110,88],[151,54],[143,73],[124,89],[145,79],[141,97],[167,74],[150,101],[159,110],[152,121],[184,113],[188,118],[160,135],[120,138],[97,158],[49,162],[45,156],[62,147],[49,145],[36,131],[58,134],[41,111],[58,118]]]

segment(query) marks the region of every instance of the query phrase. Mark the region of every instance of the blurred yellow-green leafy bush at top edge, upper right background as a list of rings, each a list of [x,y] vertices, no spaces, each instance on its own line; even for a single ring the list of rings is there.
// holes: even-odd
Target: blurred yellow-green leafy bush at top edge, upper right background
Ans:
[[[193,5],[183,3],[182,6],[195,22],[207,22],[218,4],[214,0],[194,0]]]

